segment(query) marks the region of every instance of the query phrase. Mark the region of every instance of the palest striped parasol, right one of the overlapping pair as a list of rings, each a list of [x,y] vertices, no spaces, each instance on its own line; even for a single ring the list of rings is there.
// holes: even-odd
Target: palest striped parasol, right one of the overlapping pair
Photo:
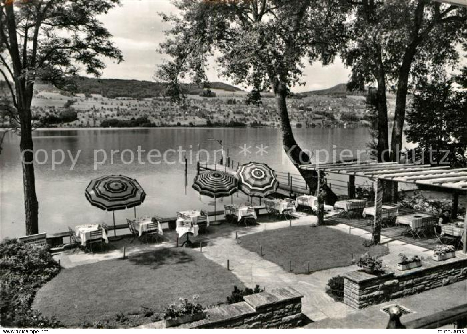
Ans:
[[[266,197],[276,192],[279,186],[276,173],[267,164],[243,164],[238,168],[237,176],[240,190],[252,197]]]

